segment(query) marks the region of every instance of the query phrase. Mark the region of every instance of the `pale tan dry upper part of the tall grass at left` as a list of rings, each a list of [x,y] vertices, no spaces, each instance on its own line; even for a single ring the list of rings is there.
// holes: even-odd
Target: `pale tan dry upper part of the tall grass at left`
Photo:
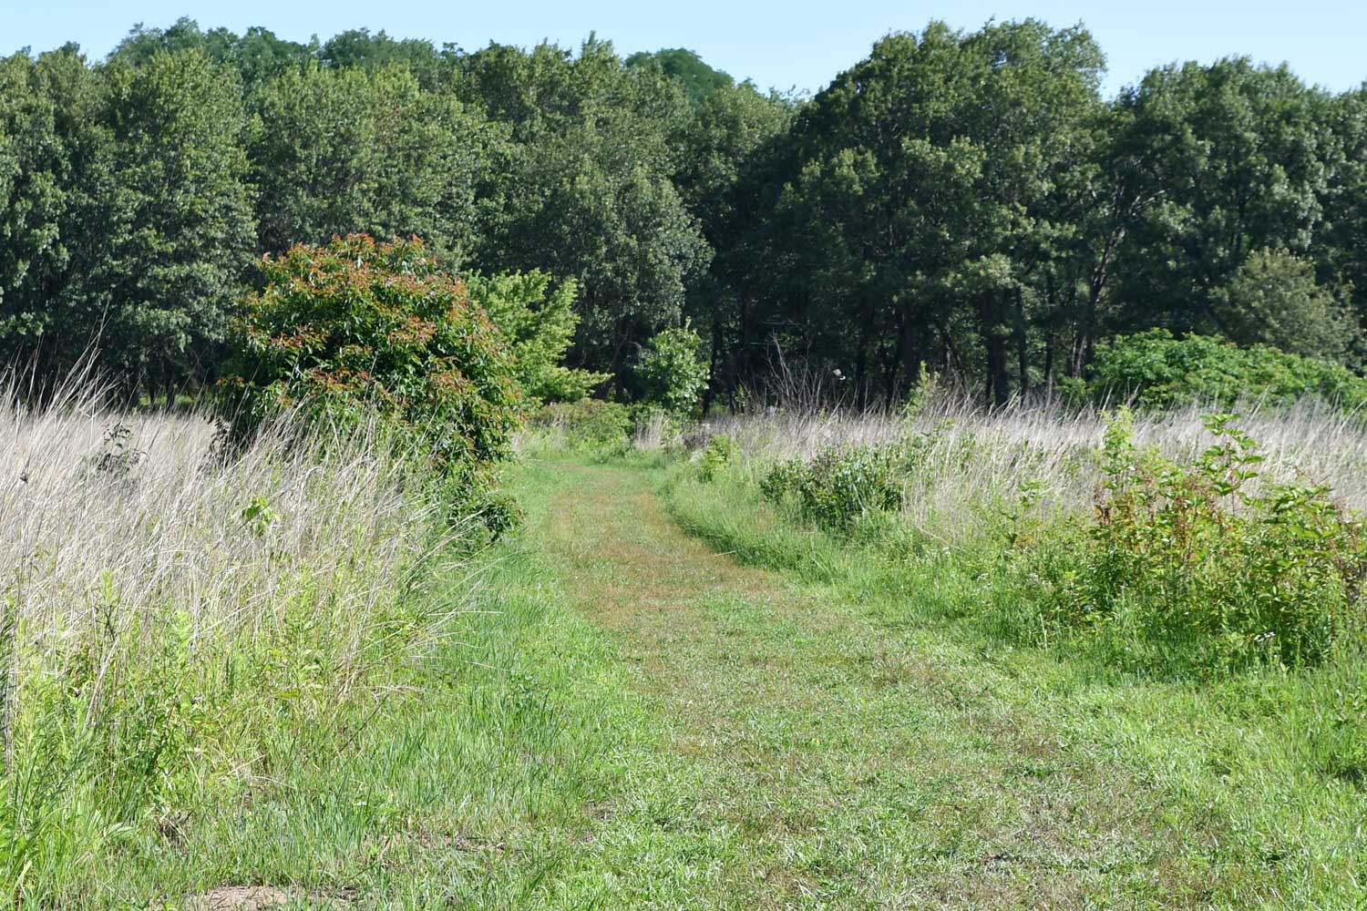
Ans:
[[[126,414],[94,396],[0,410],[0,593],[31,642],[123,634],[167,604],[195,641],[252,636],[306,575],[313,601],[353,619],[336,657],[360,654],[431,544],[407,468],[373,430],[324,447],[282,423],[227,462],[213,443],[202,414]]]

